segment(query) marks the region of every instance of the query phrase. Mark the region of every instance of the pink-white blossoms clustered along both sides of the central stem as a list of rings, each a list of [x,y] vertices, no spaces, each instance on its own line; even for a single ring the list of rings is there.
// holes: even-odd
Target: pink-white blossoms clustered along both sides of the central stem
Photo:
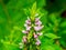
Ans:
[[[40,18],[35,18],[34,22],[31,21],[30,18],[24,23],[25,30],[22,30],[22,33],[25,33],[26,36],[23,36],[22,42],[26,43],[28,42],[28,34],[32,29],[34,30],[33,32],[33,38],[35,39],[35,44],[40,46],[41,41],[38,40],[38,36],[42,36],[41,30],[43,29],[44,26],[42,26],[42,22],[40,21]],[[21,46],[20,46],[21,48]]]

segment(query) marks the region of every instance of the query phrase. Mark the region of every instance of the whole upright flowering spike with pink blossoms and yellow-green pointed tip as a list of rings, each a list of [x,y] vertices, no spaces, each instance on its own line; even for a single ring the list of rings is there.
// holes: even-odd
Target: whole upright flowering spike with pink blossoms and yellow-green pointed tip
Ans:
[[[42,29],[44,26],[40,20],[40,14],[36,13],[36,10],[34,9],[35,6],[36,4],[34,3],[31,10],[31,17],[28,17],[28,19],[25,20],[25,30],[22,30],[22,33],[24,33],[25,36],[23,36],[22,38],[20,48],[23,48],[24,50],[40,50],[40,46],[42,43],[38,37],[43,34]]]

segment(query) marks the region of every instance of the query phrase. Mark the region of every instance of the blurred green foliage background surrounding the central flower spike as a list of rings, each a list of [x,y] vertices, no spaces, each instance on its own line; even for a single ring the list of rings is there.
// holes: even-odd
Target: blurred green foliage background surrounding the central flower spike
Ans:
[[[50,41],[41,39],[42,50],[66,50],[66,0],[0,0],[0,50],[20,50],[23,24],[26,20],[24,9],[31,8],[36,1],[37,9],[44,16],[41,18],[44,33],[61,37]]]

